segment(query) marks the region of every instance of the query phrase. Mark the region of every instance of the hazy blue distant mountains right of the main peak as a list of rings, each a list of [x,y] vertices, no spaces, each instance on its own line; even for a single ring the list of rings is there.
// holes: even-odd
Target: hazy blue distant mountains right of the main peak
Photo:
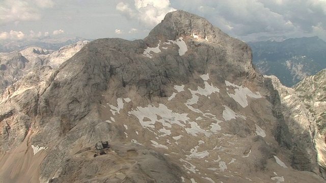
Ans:
[[[258,70],[265,75],[277,76],[282,84],[289,87],[326,68],[326,42],[318,37],[248,44],[253,51],[253,64]]]

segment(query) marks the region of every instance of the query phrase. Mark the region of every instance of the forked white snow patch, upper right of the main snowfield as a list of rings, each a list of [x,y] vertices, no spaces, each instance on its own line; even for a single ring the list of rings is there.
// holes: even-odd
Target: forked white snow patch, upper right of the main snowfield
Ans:
[[[247,107],[248,106],[248,101],[247,101],[247,96],[255,99],[262,98],[259,92],[253,93],[251,90],[247,87],[242,87],[238,86],[236,84],[230,83],[229,81],[225,81],[225,84],[227,86],[233,86],[235,87],[234,92],[235,94],[230,94],[228,95],[235,100],[238,104],[240,104],[242,107]]]

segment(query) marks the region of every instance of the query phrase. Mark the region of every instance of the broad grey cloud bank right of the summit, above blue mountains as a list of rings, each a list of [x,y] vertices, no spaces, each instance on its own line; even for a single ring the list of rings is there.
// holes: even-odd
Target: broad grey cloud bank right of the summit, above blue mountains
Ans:
[[[171,7],[205,17],[240,39],[315,36],[326,29],[325,0],[179,0]]]

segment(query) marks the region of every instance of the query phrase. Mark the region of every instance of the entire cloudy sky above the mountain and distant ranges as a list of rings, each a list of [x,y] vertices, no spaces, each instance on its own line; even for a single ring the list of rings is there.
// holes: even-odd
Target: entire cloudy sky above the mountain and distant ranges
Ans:
[[[166,13],[178,9],[243,41],[263,36],[326,40],[326,0],[0,0],[0,41],[142,39]]]

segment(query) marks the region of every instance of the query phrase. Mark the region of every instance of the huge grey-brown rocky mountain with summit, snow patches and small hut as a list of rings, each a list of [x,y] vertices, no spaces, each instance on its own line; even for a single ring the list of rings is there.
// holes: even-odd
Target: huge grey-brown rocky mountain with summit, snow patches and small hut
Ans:
[[[168,13],[144,40],[92,41],[5,90],[1,181],[324,182],[274,84],[247,44]]]

